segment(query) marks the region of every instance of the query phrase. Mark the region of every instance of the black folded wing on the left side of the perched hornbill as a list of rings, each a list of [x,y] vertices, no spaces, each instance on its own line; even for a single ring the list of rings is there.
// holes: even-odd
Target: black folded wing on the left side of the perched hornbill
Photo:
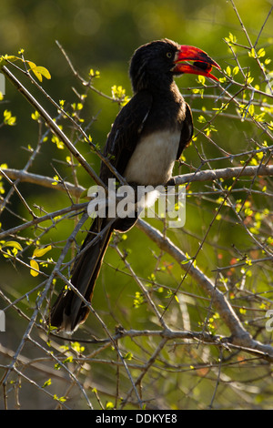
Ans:
[[[145,127],[152,102],[153,97],[147,91],[138,92],[120,110],[108,134],[104,155],[109,158],[113,167],[121,175],[123,175]],[[106,184],[108,178],[114,178],[104,162],[101,164],[100,178]]]

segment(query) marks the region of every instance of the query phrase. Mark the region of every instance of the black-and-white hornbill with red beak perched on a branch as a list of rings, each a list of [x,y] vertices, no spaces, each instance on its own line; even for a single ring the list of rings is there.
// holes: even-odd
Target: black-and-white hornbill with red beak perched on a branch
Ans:
[[[136,49],[129,67],[134,96],[116,116],[104,151],[128,184],[166,186],[175,161],[193,135],[191,110],[180,94],[174,76],[188,73],[217,80],[211,74],[213,66],[220,68],[201,49],[181,46],[168,39]],[[102,181],[107,185],[108,178],[113,177],[113,172],[102,162]],[[125,232],[136,220],[137,217],[111,221],[107,217],[94,219],[71,278],[71,283],[86,301],[92,299],[112,231]],[[85,302],[65,286],[48,321],[59,331],[71,332],[86,320],[88,313]]]

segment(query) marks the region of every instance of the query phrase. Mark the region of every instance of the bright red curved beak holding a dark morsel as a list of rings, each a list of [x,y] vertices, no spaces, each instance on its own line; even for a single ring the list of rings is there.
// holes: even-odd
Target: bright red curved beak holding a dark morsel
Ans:
[[[186,63],[185,61],[193,61],[193,63]],[[181,64],[183,62],[183,64]],[[192,74],[192,75],[201,75],[209,77],[213,80],[218,81],[216,76],[213,76],[210,72],[212,67],[221,69],[217,63],[211,59],[206,52],[202,51],[195,46],[181,45],[179,51],[175,57],[175,66],[172,71],[175,74]]]

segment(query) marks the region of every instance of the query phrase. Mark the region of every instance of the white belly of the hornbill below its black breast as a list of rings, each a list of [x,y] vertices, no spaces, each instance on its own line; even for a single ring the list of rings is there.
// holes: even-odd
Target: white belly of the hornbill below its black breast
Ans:
[[[126,166],[126,181],[146,186],[167,183],[177,158],[179,138],[178,131],[158,131],[142,138]]]

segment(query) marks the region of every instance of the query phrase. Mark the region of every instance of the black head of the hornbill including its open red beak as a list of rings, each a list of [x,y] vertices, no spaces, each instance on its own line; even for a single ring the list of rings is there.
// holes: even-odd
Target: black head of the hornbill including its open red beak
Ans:
[[[130,77],[135,92],[146,89],[152,82],[173,76],[194,74],[217,80],[212,67],[220,68],[206,52],[195,46],[178,45],[172,40],[157,40],[136,49],[130,63]]]

